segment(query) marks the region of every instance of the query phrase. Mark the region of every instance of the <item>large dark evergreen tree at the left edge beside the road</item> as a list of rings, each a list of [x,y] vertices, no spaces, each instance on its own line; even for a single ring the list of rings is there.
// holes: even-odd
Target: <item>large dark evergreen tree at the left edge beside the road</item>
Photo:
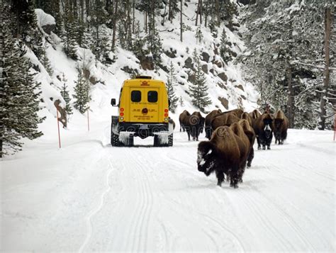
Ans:
[[[2,10],[2,9],[1,9]],[[33,81],[30,64],[9,31],[6,23],[0,23],[1,86],[0,86],[0,157],[21,150],[21,137],[35,139],[38,131],[38,88]]]

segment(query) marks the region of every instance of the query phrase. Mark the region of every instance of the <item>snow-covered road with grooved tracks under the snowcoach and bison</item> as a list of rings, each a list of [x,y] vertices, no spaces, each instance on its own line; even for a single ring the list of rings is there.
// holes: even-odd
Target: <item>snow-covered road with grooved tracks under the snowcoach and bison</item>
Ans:
[[[256,150],[239,189],[198,172],[186,133],[162,148],[111,147],[108,124],[83,133],[1,162],[1,251],[335,252],[330,131]]]

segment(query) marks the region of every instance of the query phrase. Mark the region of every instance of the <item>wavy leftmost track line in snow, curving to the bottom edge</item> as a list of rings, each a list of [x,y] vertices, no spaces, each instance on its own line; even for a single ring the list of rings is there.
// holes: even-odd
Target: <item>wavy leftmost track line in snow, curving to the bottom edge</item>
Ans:
[[[103,193],[101,193],[101,200],[99,202],[99,205],[96,206],[96,208],[92,209],[88,215],[86,215],[86,238],[82,244],[82,246],[79,248],[79,252],[84,252],[84,249],[86,247],[86,245],[89,243],[89,241],[91,240],[92,237],[92,231],[93,231],[93,226],[92,226],[92,221],[91,218],[96,215],[96,213],[99,212],[99,210],[101,210],[101,208],[103,207],[103,203],[104,203],[104,199],[105,199],[105,195],[106,193],[108,193],[108,191],[111,190],[111,186],[109,184],[109,177],[111,175],[111,173],[113,172],[113,166],[111,164],[110,159],[108,159],[108,167],[110,169],[108,169],[107,175],[106,175],[106,185],[107,185],[107,189],[105,191],[103,191]]]

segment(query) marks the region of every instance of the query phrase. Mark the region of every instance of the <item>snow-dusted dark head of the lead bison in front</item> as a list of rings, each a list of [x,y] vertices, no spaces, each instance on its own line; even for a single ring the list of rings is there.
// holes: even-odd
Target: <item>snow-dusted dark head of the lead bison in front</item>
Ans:
[[[215,147],[212,142],[199,142],[197,152],[198,171],[206,176],[210,175],[215,168]]]

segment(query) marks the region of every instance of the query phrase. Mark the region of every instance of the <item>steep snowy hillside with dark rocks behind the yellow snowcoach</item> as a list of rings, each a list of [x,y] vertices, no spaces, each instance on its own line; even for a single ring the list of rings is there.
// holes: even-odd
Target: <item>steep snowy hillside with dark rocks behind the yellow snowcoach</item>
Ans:
[[[112,54],[116,59],[113,64],[105,65],[96,60],[96,57],[90,50],[77,47],[78,60],[74,61],[69,59],[62,51],[63,44],[60,38],[55,34],[47,35],[45,33],[45,47],[47,51],[47,57],[50,60],[50,65],[53,70],[53,74],[50,77],[45,71],[44,67],[34,55],[30,54],[32,62],[37,64],[41,70],[35,76],[36,81],[41,81],[43,91],[43,106],[46,110],[43,116],[47,118],[54,118],[56,116],[56,110],[54,101],[60,99],[62,103],[62,96],[60,96],[60,89],[65,83],[69,88],[70,97],[74,94],[74,85],[77,81],[77,68],[85,66],[89,69],[89,78],[91,81],[91,97],[90,113],[94,114],[97,118],[111,116],[113,112],[110,101],[111,98],[118,98],[121,84],[125,79],[130,79],[131,74],[127,71],[133,69],[138,74],[147,74],[155,79],[162,79],[167,81],[167,67],[172,62],[175,72],[177,74],[177,83],[174,86],[176,96],[182,98],[184,105],[177,107],[177,116],[181,111],[185,109],[189,111],[199,111],[191,103],[191,96],[189,94],[189,60],[192,59],[192,53],[196,49],[201,57],[201,64],[205,69],[206,84],[208,85],[208,95],[212,101],[211,106],[206,108],[206,111],[211,111],[213,108],[220,108],[223,111],[231,110],[241,106],[245,111],[252,111],[257,107],[258,95],[254,91],[254,87],[251,84],[245,83],[242,80],[239,66],[234,65],[232,62],[225,64],[221,57],[218,55],[218,45],[220,45],[220,31],[225,28],[221,26],[218,28],[217,38],[213,38],[209,28],[202,27],[203,39],[201,43],[196,42],[195,32],[197,26],[194,24],[195,19],[195,5],[196,1],[191,1],[184,10],[186,18],[184,23],[189,26],[191,30],[184,32],[183,42],[180,41],[179,34],[179,20],[174,19],[172,23],[166,22],[164,26],[160,25],[157,21],[159,35],[162,38],[162,48],[166,52],[162,54],[162,65],[164,69],[159,69],[157,72],[144,70],[141,67],[140,61],[135,57],[132,52],[123,50],[121,47],[117,47],[115,54]],[[42,10],[37,10],[38,23],[40,27],[46,24],[52,23],[52,16],[44,13]],[[142,21],[142,14],[136,12],[139,21]],[[143,24],[140,23],[140,26]],[[232,44],[231,50],[236,54],[239,54],[244,47],[240,38],[237,35],[237,31],[233,33],[228,28],[225,28],[228,41]],[[111,32],[110,32],[111,33]],[[170,53],[169,53],[170,52]],[[172,53],[173,52],[173,53]],[[203,56],[203,55],[204,56]],[[169,56],[170,57],[169,57]],[[192,62],[191,62],[192,64]],[[165,70],[165,71],[164,71]],[[189,73],[189,74],[188,74]],[[67,81],[62,81],[64,78]],[[62,104],[61,104],[62,106]],[[177,119],[177,116],[172,115],[172,118]],[[82,118],[83,116],[75,110],[74,115],[69,118],[68,129],[71,130],[74,120]],[[48,121],[48,120],[47,120]],[[47,121],[43,124],[48,124]],[[43,127],[47,128],[47,126]]]

